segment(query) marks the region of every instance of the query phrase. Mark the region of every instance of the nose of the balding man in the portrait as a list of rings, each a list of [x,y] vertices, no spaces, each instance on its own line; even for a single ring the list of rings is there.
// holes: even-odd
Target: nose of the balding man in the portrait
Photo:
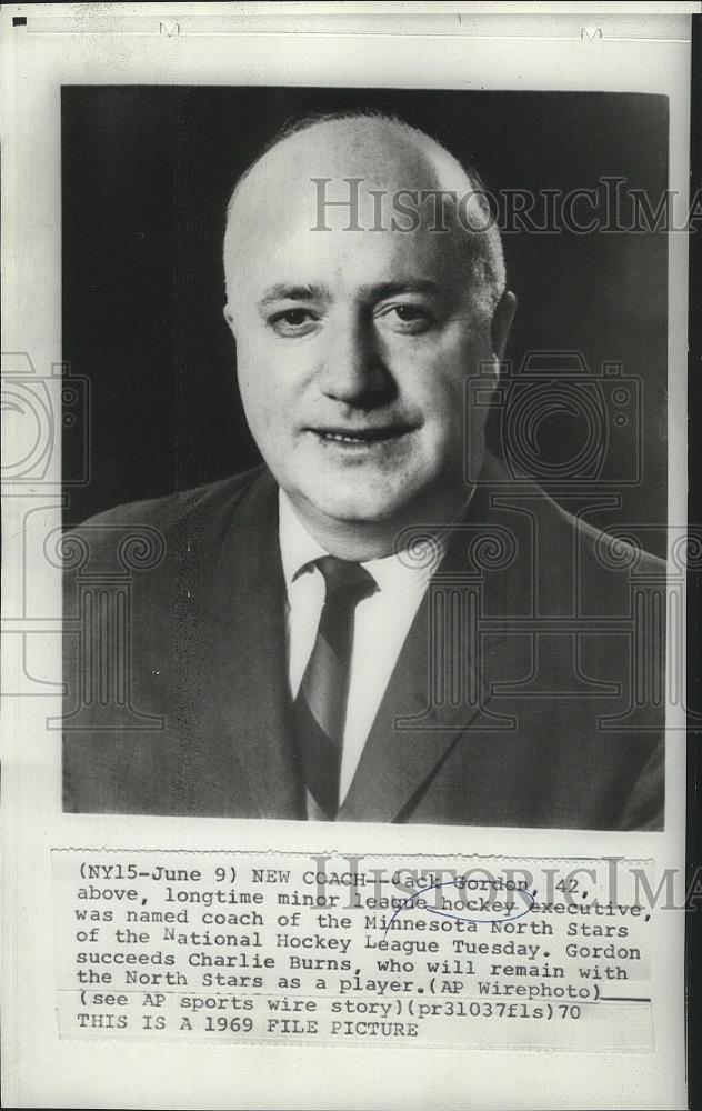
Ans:
[[[360,316],[330,328],[319,386],[328,398],[370,409],[389,401],[394,383],[372,320]]]

